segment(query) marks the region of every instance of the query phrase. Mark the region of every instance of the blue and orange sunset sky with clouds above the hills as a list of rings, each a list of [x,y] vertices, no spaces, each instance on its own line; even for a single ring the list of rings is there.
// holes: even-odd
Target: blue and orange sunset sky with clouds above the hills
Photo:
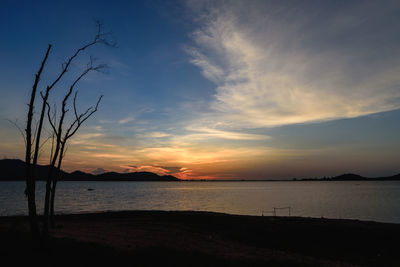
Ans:
[[[400,172],[398,1],[2,0],[1,158],[24,158],[10,120],[24,127],[47,45],[40,90],[94,37],[96,19],[117,47],[85,51],[50,96],[60,103],[90,56],[108,65],[77,85],[80,110],[104,98],[70,140],[66,171],[182,179]],[[40,157],[48,162],[49,142]]]

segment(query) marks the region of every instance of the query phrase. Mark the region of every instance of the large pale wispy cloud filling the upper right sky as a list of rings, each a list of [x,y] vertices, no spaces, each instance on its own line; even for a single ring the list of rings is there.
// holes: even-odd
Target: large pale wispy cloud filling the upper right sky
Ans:
[[[243,129],[400,108],[400,40],[375,16],[389,8],[224,3],[200,9],[186,48],[216,84],[203,117]]]

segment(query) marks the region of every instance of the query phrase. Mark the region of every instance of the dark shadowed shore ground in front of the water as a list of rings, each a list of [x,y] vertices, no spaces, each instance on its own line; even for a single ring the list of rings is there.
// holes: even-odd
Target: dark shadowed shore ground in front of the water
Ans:
[[[400,224],[208,212],[62,215],[30,240],[26,217],[0,217],[8,266],[400,266]]]

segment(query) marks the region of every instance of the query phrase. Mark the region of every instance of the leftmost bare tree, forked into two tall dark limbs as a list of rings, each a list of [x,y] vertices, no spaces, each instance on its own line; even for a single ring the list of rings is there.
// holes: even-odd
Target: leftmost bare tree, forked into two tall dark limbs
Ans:
[[[25,128],[25,173],[26,173],[26,195],[28,197],[28,210],[29,210],[29,221],[30,221],[30,228],[31,232],[34,237],[38,237],[40,235],[39,231],[39,224],[37,220],[37,212],[36,212],[36,177],[35,177],[35,169],[37,165],[37,161],[39,158],[39,152],[43,145],[41,143],[41,134],[43,130],[43,121],[44,116],[46,114],[46,108],[48,107],[48,98],[50,95],[51,90],[58,84],[61,78],[67,73],[69,70],[71,63],[74,59],[84,50],[87,48],[94,46],[96,44],[104,44],[107,46],[115,46],[114,43],[107,40],[107,36],[109,33],[104,33],[103,31],[103,24],[99,21],[96,21],[97,24],[97,33],[94,39],[91,42],[83,45],[82,47],[75,50],[73,55],[66,60],[61,66],[61,72],[56,77],[56,79],[47,85],[44,93],[42,95],[42,108],[40,111],[40,116],[38,120],[38,124],[35,127],[34,133],[32,133],[32,124],[33,124],[33,115],[34,115],[34,107],[35,107],[35,100],[37,94],[37,88],[40,81],[41,74],[45,67],[47,58],[49,56],[50,50],[52,45],[49,44],[46,54],[42,60],[40,65],[39,71],[35,76],[35,81],[32,86],[30,102],[28,105],[28,114],[27,114],[27,122]],[[50,189],[49,189],[50,190]]]

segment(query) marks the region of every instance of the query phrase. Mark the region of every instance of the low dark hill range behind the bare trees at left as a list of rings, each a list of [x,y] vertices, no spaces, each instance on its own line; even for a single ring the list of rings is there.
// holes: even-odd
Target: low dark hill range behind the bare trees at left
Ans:
[[[45,180],[49,166],[36,166],[37,180]],[[0,160],[0,181],[23,181],[25,180],[25,162],[19,159]],[[130,172],[117,173],[106,172],[99,175],[74,171],[67,173],[62,171],[62,181],[180,181],[172,175],[163,175],[152,172]]]

